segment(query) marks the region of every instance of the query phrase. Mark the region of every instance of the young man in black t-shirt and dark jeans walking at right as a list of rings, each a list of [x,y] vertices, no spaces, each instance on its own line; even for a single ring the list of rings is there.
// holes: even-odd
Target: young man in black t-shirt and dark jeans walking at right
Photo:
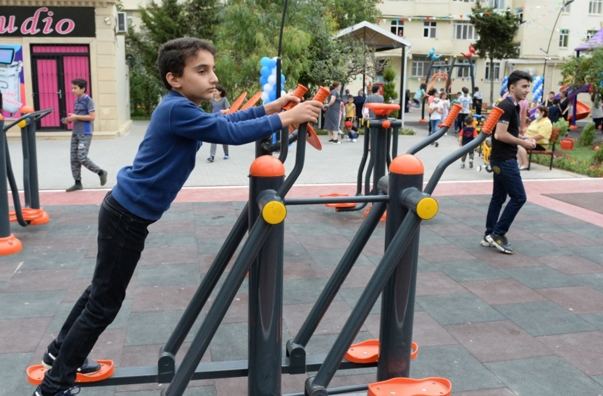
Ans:
[[[513,247],[508,242],[507,231],[515,219],[519,209],[526,202],[522,175],[517,166],[517,146],[533,149],[536,143],[532,139],[519,137],[519,101],[528,96],[532,76],[529,73],[516,70],[508,79],[508,96],[497,107],[504,111],[500,116],[492,135],[492,153],[490,165],[494,185],[492,199],[486,217],[486,232],[481,241],[482,246],[494,246],[503,253],[513,253]],[[511,198],[505,210],[500,215],[500,209]],[[500,218],[499,218],[500,215]]]

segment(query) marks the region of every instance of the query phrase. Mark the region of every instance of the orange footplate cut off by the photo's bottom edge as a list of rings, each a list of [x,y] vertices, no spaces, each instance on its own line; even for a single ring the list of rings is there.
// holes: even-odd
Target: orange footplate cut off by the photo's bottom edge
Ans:
[[[450,396],[452,384],[445,378],[430,377],[422,380],[393,378],[368,385],[368,396]]]

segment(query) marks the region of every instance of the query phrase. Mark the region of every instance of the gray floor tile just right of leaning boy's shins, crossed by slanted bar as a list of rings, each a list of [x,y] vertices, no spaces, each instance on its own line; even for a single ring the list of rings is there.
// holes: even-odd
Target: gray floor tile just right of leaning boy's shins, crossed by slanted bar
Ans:
[[[125,345],[165,344],[184,311],[132,312],[128,321]],[[191,342],[205,317],[201,312],[186,336]]]

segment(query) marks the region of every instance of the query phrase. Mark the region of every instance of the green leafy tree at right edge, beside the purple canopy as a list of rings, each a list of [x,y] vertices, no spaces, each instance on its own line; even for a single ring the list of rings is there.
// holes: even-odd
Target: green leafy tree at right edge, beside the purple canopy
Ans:
[[[570,55],[561,65],[561,76],[561,85],[569,85],[572,90],[590,85],[592,101],[599,107],[603,100],[603,48],[581,52],[578,58]]]

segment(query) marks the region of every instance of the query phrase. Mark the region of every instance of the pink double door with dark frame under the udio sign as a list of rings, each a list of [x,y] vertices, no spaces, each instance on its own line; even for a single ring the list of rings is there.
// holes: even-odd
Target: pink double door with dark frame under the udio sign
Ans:
[[[60,120],[74,111],[71,81],[83,78],[90,94],[90,58],[86,45],[32,45],[34,106],[54,111],[38,124],[41,130],[67,130]],[[71,124],[69,125],[71,129]]]

